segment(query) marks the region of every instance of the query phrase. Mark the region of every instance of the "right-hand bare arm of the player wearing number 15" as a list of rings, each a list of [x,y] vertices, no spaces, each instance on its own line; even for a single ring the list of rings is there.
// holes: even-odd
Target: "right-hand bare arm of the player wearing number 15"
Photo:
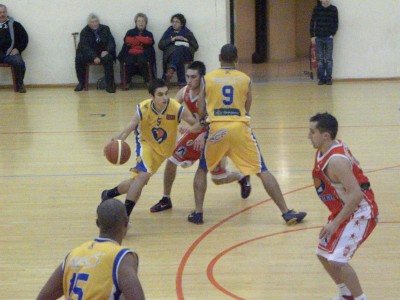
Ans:
[[[118,285],[126,300],[145,299],[138,277],[138,261],[136,253],[128,253],[118,268]]]

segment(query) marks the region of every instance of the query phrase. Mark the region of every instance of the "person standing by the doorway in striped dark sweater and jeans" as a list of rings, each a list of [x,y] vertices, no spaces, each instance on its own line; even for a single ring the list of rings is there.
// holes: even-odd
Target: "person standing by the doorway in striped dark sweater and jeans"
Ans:
[[[316,43],[318,60],[318,84],[332,84],[333,37],[339,26],[336,6],[330,0],[321,0],[314,7],[310,22],[311,43]]]

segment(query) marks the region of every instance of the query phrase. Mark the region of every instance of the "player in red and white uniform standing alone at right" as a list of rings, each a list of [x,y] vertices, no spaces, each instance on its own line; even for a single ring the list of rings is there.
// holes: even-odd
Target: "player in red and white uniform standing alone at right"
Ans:
[[[312,172],[315,189],[331,212],[320,231],[316,254],[339,288],[336,299],[365,300],[349,260],[378,222],[374,193],[349,148],[336,140],[334,116],[316,114],[309,129],[308,138],[317,149]]]

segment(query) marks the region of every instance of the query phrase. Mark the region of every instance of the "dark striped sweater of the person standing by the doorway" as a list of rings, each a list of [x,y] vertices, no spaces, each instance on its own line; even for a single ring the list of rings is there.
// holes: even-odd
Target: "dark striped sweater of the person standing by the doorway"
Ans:
[[[321,4],[314,7],[310,22],[311,37],[334,36],[339,26],[339,15],[336,6],[324,7]]]

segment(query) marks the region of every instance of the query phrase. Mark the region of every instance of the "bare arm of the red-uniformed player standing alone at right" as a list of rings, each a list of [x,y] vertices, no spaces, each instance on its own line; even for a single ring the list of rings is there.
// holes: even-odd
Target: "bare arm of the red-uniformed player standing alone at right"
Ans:
[[[351,163],[346,158],[332,157],[326,168],[326,174],[333,182],[343,185],[345,193],[341,199],[344,206],[335,219],[322,228],[320,238],[335,232],[340,224],[351,216],[364,197],[360,185],[352,172]]]

